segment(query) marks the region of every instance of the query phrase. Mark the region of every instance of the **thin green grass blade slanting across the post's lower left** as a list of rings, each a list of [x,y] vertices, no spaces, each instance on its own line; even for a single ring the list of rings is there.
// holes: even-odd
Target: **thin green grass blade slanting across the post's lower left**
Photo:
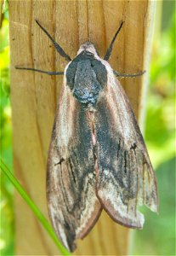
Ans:
[[[37,218],[39,219],[40,223],[43,224],[43,227],[45,230],[47,230],[48,235],[51,236],[51,238],[53,239],[54,243],[56,244],[56,246],[59,248],[60,253],[62,253],[62,255],[71,255],[71,253],[69,253],[65,247],[62,246],[62,244],[60,243],[60,241],[58,240],[57,236],[54,233],[53,228],[51,227],[51,225],[48,223],[47,218],[44,217],[43,213],[39,210],[39,208],[37,207],[37,205],[31,200],[31,198],[29,197],[29,195],[26,194],[26,191],[23,189],[23,187],[20,185],[19,181],[14,177],[14,175],[12,174],[12,172],[9,171],[9,168],[3,163],[3,160],[0,159],[0,168],[2,170],[2,172],[9,178],[10,182],[14,184],[15,189],[18,190],[18,192],[20,193],[20,195],[22,196],[22,198],[26,201],[26,203],[28,204],[28,206],[31,208],[31,210],[35,213],[35,215],[37,216]]]

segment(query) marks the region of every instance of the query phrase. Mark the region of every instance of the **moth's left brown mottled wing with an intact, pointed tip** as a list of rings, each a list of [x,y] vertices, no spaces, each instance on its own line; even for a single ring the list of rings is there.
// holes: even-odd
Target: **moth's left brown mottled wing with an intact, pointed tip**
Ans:
[[[94,226],[101,206],[95,195],[91,127],[81,105],[64,86],[48,153],[48,211],[54,230],[73,251]]]

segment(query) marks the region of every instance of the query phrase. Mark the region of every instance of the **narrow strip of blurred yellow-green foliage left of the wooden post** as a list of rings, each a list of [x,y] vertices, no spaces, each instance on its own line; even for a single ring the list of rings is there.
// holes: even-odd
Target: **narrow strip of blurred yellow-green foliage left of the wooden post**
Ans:
[[[9,101],[9,20],[4,13],[0,31],[0,121],[1,121],[1,156],[12,168],[12,125]],[[13,187],[9,179],[1,173],[1,255],[14,255],[14,211]]]

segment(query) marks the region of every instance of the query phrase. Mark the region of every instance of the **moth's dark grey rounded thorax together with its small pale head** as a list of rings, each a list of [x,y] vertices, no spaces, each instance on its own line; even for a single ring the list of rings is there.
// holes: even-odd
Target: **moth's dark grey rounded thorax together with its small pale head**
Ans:
[[[82,52],[66,69],[66,83],[78,102],[95,105],[100,91],[107,83],[107,72],[105,65],[97,60],[93,53],[85,50],[88,48],[93,49],[95,53],[93,44],[82,44]]]

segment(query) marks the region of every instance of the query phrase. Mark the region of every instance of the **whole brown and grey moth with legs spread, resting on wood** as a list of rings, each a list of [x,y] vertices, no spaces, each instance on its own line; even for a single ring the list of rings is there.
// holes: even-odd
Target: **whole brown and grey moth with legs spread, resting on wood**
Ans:
[[[37,21],[37,20],[36,20]],[[49,75],[64,74],[48,152],[48,212],[55,233],[71,252],[94,227],[104,209],[118,224],[141,229],[138,207],[157,212],[156,177],[133,110],[117,77],[142,73],[114,71],[94,44],[82,44],[71,60],[37,21],[59,54],[69,61],[63,72],[16,67]]]

